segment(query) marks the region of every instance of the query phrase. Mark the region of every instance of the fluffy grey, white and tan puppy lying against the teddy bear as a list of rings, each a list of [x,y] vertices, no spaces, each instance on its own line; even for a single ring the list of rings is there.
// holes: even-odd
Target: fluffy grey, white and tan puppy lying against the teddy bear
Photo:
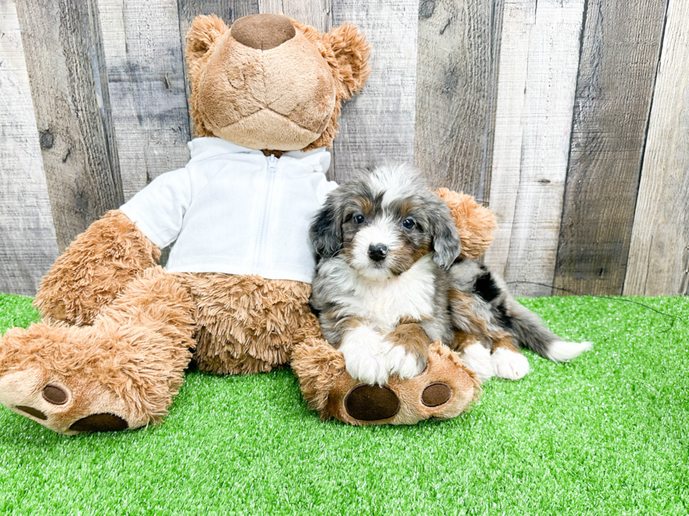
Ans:
[[[461,352],[484,380],[529,371],[518,344],[555,361],[591,347],[563,342],[500,277],[458,258],[449,207],[409,166],[375,168],[330,192],[309,238],[317,255],[311,308],[363,383],[416,376],[434,340]]]

